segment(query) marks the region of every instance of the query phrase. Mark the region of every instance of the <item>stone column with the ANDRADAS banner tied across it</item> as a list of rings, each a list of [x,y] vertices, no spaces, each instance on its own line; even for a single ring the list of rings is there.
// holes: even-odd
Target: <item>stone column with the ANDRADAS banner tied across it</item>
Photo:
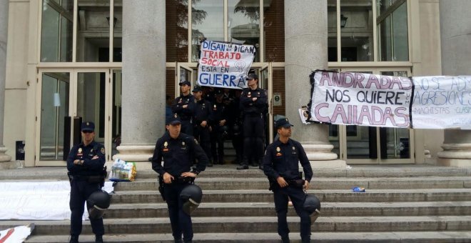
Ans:
[[[286,115],[295,126],[293,139],[303,144],[314,167],[345,167],[331,152],[328,126],[304,125],[298,114],[310,99],[310,73],[328,67],[327,34],[327,1],[285,1]]]

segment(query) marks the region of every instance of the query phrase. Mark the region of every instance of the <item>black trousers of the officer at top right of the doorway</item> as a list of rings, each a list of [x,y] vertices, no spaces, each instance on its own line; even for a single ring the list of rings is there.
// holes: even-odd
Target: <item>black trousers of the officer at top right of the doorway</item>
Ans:
[[[243,119],[243,164],[248,164],[248,159],[263,159],[263,137],[265,126],[263,114],[246,114]]]

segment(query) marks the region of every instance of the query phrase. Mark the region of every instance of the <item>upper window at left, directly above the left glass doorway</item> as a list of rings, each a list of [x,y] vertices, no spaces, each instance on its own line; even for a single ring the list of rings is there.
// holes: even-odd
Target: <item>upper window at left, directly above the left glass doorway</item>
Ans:
[[[122,0],[43,0],[42,4],[41,62],[121,61]]]

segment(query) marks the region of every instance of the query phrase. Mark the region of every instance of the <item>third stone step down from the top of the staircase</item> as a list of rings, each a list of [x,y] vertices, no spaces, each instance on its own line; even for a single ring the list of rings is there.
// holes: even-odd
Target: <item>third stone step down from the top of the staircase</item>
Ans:
[[[471,201],[471,189],[368,189],[364,193],[350,190],[309,190],[320,202],[435,202]],[[116,203],[163,202],[157,190],[120,191],[111,198]],[[260,190],[204,190],[203,202],[273,202],[273,192]]]

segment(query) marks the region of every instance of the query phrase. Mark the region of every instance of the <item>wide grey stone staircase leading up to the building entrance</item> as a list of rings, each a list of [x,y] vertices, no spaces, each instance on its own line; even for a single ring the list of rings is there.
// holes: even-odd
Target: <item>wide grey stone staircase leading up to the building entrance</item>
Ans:
[[[204,195],[192,217],[193,242],[280,242],[267,179],[258,169],[233,167],[209,168],[196,180]],[[16,174],[0,171],[0,176],[31,180],[21,170],[28,168]],[[34,178],[66,179],[65,169],[56,170]],[[313,242],[471,242],[471,169],[384,165],[314,172],[309,192],[319,197],[322,209],[312,226]],[[357,186],[366,192],[351,192]],[[116,184],[104,219],[104,239],[173,242],[167,215],[156,173],[139,171],[136,182]],[[69,239],[68,220],[31,222],[36,229],[27,242]],[[299,217],[293,208],[288,223],[292,242],[299,242]],[[26,222],[0,221],[0,229],[19,224]],[[84,222],[80,239],[92,241],[89,222]]]

